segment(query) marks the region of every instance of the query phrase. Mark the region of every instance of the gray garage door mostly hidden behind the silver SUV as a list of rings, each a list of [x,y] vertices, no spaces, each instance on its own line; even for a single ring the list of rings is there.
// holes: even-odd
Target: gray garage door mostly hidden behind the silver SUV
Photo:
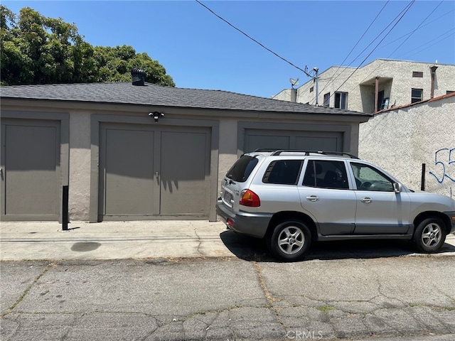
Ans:
[[[338,131],[274,131],[245,129],[244,151],[258,148],[343,151],[343,133]]]

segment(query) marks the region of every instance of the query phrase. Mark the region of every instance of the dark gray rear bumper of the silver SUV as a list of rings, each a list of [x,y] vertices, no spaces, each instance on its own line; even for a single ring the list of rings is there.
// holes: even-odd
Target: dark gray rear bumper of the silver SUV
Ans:
[[[221,200],[216,204],[216,212],[228,229],[257,238],[265,236],[272,219],[270,213],[232,212]]]

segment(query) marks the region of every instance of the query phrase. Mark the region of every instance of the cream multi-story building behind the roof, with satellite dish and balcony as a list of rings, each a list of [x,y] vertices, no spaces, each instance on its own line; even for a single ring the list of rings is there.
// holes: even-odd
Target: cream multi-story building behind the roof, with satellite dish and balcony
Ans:
[[[314,78],[273,98],[373,113],[454,91],[455,65],[377,59],[359,68],[330,67],[317,82]]]

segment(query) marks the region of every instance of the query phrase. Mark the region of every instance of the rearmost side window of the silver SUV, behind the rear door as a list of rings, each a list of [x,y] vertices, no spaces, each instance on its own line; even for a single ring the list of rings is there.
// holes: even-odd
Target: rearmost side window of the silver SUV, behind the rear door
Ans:
[[[262,182],[277,185],[296,185],[302,163],[301,160],[272,161],[264,173]]]

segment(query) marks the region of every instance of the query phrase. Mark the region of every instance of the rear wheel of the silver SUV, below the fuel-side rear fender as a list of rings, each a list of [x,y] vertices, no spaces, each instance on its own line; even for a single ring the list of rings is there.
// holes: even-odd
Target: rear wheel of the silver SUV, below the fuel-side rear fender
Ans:
[[[267,240],[267,245],[277,259],[296,261],[308,251],[311,232],[303,222],[287,220],[277,224]]]

